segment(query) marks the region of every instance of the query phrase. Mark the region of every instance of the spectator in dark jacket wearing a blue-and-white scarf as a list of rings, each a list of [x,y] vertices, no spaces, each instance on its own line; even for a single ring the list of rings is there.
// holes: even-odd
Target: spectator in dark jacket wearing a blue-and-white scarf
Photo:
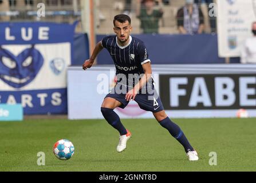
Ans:
[[[203,13],[194,0],[186,0],[186,5],[178,10],[177,24],[181,34],[203,33]]]

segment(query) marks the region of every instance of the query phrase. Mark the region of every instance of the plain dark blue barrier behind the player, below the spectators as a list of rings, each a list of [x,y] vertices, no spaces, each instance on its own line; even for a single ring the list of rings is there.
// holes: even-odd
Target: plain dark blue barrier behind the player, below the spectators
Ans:
[[[106,35],[97,35],[97,42]],[[218,36],[211,34],[135,34],[147,47],[152,64],[225,63],[218,56]],[[231,58],[231,63],[239,63],[239,58]],[[100,52],[97,63],[113,64],[106,49]]]

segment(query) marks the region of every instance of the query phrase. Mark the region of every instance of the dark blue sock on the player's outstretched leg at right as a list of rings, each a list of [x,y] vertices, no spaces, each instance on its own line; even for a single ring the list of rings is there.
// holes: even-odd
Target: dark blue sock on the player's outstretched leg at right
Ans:
[[[165,118],[164,120],[160,121],[159,124],[163,126],[163,128],[166,128],[170,132],[172,137],[176,138],[176,140],[178,140],[180,144],[183,145],[186,153],[194,150],[182,130],[179,128],[178,125],[172,122],[170,118]]]

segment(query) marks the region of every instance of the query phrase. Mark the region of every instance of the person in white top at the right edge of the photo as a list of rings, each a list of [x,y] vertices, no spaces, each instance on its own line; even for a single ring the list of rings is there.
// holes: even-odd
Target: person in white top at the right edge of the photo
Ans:
[[[253,37],[247,38],[241,51],[241,63],[256,63],[256,22],[253,22],[251,31]]]

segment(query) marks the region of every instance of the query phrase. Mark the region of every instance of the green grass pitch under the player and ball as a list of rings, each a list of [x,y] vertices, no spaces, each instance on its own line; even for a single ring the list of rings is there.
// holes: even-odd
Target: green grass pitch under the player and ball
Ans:
[[[176,119],[199,161],[156,120],[122,120],[132,133],[127,149],[116,152],[119,133],[105,120],[63,119],[0,122],[0,171],[255,171],[255,118]],[[74,156],[58,160],[52,146],[61,138],[74,144]],[[45,153],[45,166],[37,153]],[[209,165],[216,152],[217,165]]]

